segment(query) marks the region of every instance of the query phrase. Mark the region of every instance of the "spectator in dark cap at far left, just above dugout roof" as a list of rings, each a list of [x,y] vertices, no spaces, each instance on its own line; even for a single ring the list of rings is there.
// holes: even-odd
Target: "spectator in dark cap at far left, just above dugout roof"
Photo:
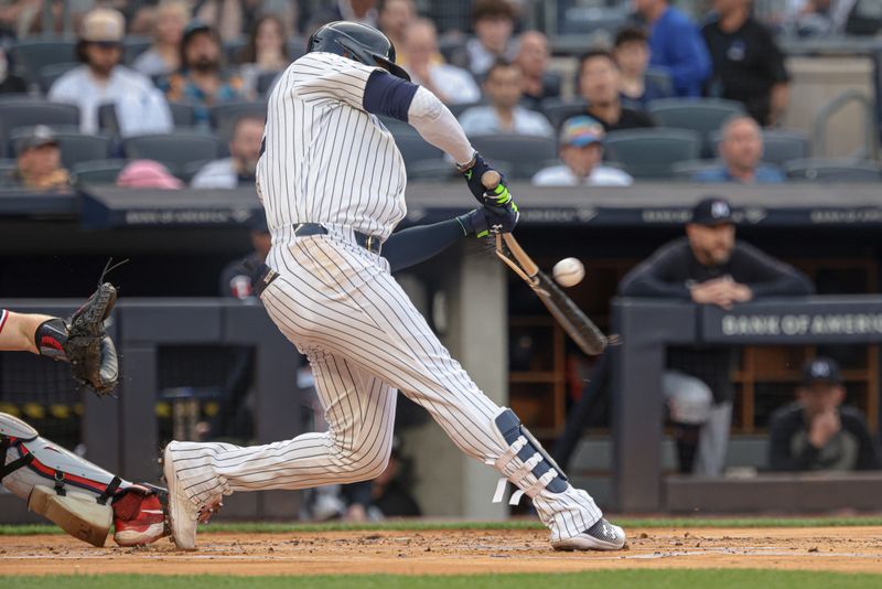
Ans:
[[[62,152],[52,129],[37,125],[17,143],[15,169],[4,184],[46,192],[71,189],[71,175],[62,167]]]

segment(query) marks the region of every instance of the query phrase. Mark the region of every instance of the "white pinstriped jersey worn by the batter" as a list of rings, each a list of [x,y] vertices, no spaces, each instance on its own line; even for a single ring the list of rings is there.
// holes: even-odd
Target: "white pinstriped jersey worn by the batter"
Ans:
[[[362,106],[375,69],[308,53],[282,74],[269,98],[257,165],[273,236],[298,223],[322,223],[385,239],[404,218],[404,159],[391,133]]]

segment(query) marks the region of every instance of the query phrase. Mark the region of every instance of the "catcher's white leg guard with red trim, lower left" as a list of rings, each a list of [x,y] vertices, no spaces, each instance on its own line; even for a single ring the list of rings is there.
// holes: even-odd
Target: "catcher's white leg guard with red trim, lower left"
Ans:
[[[34,428],[0,413],[0,480],[13,494],[65,532],[104,546],[114,511],[108,500],[130,486],[64,448],[37,436]]]

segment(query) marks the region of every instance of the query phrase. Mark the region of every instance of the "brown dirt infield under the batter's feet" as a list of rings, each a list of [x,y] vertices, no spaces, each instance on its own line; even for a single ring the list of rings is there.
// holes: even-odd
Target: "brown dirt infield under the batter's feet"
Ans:
[[[68,536],[0,537],[0,576],[140,572],[319,575],[566,572],[594,568],[779,568],[882,574],[882,527],[630,529],[626,550],[572,554],[541,531],[201,534],[93,548]]]

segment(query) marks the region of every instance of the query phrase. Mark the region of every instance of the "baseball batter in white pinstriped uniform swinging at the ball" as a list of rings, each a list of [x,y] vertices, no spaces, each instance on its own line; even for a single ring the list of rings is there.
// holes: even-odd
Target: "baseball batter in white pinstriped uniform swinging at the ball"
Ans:
[[[510,409],[477,388],[391,277],[380,248],[405,216],[407,179],[379,115],[409,122],[459,162],[485,221],[458,221],[459,235],[512,231],[517,222],[506,186],[482,184],[492,169],[443,104],[395,65],[388,39],[351,22],[318,30],[270,96],[257,189],[272,234],[260,298],[309,358],[330,430],[247,448],[169,443],[174,542],[194,549],[201,513],[222,495],[379,475],[400,390],[463,452],[501,472],[495,501],[505,480],[518,489],[513,501],[533,499],[555,548],[621,548],[622,528],[568,482]]]

